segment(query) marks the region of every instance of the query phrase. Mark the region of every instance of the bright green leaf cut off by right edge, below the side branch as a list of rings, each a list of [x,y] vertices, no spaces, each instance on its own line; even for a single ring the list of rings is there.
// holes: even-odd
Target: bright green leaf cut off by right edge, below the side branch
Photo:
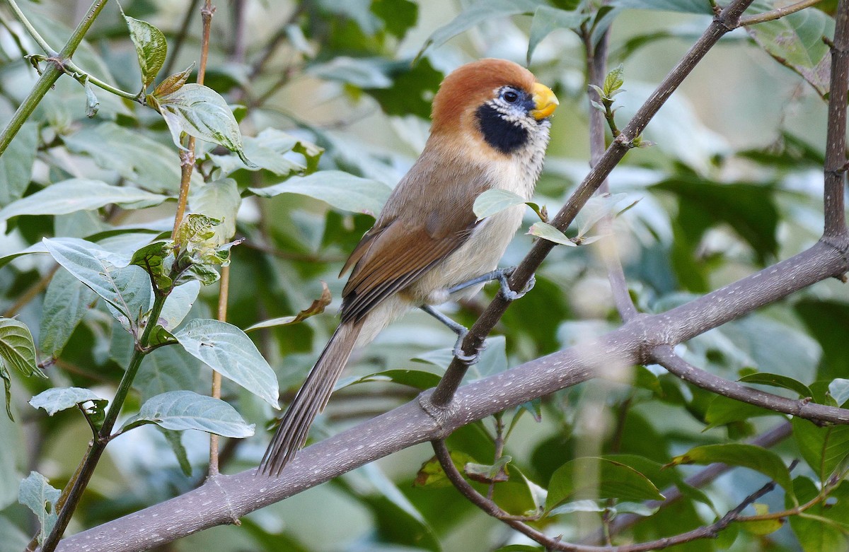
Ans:
[[[849,455],[849,426],[819,427],[801,418],[793,418],[790,423],[802,458],[819,481],[825,482]]]

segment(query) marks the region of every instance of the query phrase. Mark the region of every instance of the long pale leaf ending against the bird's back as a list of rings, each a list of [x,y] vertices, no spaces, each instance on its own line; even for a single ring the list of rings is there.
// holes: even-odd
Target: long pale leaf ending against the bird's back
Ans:
[[[389,198],[390,187],[340,170],[322,170],[310,176],[292,176],[273,186],[248,188],[262,198],[298,193],[320,199],[336,209],[375,216]]]

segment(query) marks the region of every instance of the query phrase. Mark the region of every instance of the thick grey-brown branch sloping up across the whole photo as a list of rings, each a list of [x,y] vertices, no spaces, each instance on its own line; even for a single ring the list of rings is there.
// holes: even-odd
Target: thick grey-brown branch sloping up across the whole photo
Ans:
[[[835,248],[836,247],[836,248]],[[435,409],[430,391],[295,455],[282,477],[256,477],[256,469],[216,477],[174,499],[66,538],[61,552],[137,552],[286,499],[414,444],[446,438],[458,427],[593,378],[604,365],[648,362],[662,343],[673,345],[849,270],[849,237],[818,242],[767,267],[659,315],[638,315],[614,332],[578,347],[531,360],[459,388],[446,408]],[[734,301],[728,300],[733,294]],[[849,411],[842,411],[849,419]]]

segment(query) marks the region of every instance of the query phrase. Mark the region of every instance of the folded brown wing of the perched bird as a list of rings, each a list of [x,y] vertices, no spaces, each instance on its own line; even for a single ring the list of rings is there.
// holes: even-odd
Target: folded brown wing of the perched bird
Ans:
[[[380,301],[415,282],[459,248],[477,224],[472,205],[491,186],[481,172],[414,171],[413,178],[398,185],[406,188],[404,204],[390,199],[343,269],[353,266],[342,291],[342,321],[360,320]],[[439,201],[429,186],[433,178],[451,180],[439,187]]]

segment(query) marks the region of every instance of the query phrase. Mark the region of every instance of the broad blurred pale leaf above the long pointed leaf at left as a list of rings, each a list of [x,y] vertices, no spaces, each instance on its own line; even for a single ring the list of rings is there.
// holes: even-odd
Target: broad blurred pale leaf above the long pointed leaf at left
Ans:
[[[74,134],[63,136],[62,140],[70,151],[90,156],[99,167],[115,170],[127,181],[145,190],[175,195],[179,190],[180,158],[177,152],[141,131],[105,122],[87,125]],[[202,181],[203,177],[194,171],[192,186]]]

